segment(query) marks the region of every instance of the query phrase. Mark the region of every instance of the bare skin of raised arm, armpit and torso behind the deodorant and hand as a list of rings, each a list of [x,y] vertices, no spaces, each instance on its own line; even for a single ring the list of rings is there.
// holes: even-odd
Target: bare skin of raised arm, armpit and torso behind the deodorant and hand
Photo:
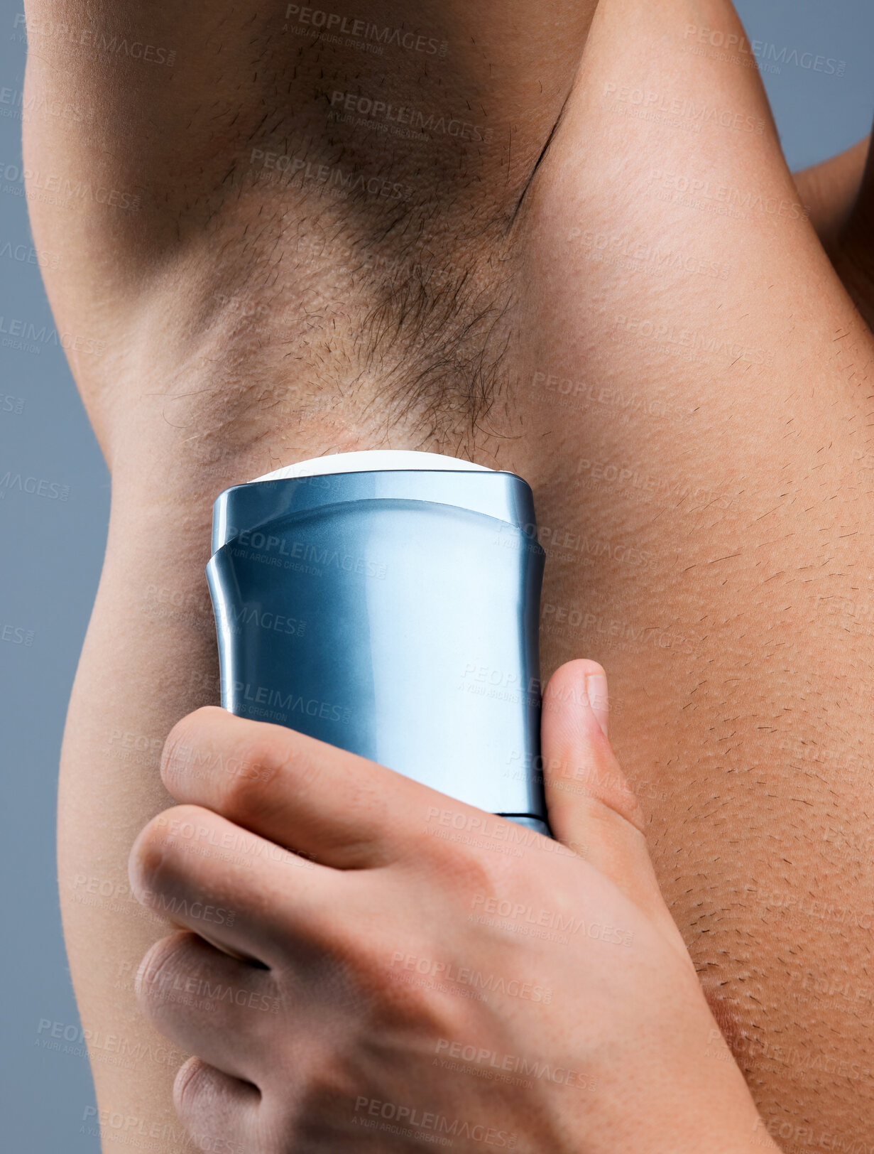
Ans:
[[[59,802],[83,1026],[136,1055],[93,1063],[105,1148],[127,1148],[114,1111],[187,1142],[187,1054],[133,981],[166,922],[126,862],[172,803],[167,733],[218,703],[212,500],[357,448],[533,485],[544,675],[580,653],[610,670],[658,883],[768,1130],[871,1144],[874,343],[758,77],[691,51],[690,28],[739,35],[731,8],[429,6],[446,57],[382,61],[280,31],[284,10],[28,6],[35,242],[113,485]],[[61,18],[178,55],[84,51]],[[330,119],[338,91],[495,132],[420,148]],[[271,155],[316,175],[274,180]],[[402,212],[325,195],[319,164],[401,185]],[[68,180],[138,207],[50,190]],[[424,322],[392,339],[417,282]]]

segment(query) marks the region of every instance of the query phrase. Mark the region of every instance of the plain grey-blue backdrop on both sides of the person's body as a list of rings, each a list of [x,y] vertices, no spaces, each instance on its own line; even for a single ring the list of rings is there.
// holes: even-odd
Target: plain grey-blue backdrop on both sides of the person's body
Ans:
[[[812,52],[846,62],[843,76],[784,63],[764,75],[792,167],[864,136],[874,112],[874,6],[869,0],[741,0],[751,39],[779,55]],[[0,1082],[3,1147],[12,1154],[97,1154],[83,1116],[93,1107],[84,1056],[45,1049],[40,1020],[75,1035],[78,1017],[63,952],[55,881],[58,755],[76,660],[100,574],[110,481],[63,353],[3,345],[13,320],[53,321],[39,268],[28,261],[20,93],[25,44],[20,0],[0,3],[0,478],[69,486],[66,500],[0,486],[0,807],[3,943]],[[12,103],[10,103],[12,102]],[[12,178],[12,179],[9,179]],[[23,246],[16,258],[16,246]],[[8,411],[5,397],[14,399]],[[52,492],[52,490],[50,490]],[[54,492],[62,492],[60,488]],[[6,632],[3,632],[6,627]],[[21,630],[21,632],[17,632]],[[32,632],[30,644],[27,638]],[[93,1123],[92,1123],[93,1125]]]

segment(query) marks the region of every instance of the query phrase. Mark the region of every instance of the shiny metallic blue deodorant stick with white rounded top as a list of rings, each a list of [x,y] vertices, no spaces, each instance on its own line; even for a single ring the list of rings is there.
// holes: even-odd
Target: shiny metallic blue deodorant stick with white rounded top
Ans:
[[[217,499],[221,704],[549,835],[529,486],[440,454],[302,462]]]

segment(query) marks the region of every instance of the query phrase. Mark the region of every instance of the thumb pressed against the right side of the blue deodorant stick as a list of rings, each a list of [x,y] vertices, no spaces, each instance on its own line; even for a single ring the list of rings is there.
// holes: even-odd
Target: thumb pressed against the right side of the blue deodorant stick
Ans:
[[[603,668],[583,660],[563,665],[543,695],[541,745],[549,824],[559,841],[679,937],[649,857],[643,815],[606,729]]]

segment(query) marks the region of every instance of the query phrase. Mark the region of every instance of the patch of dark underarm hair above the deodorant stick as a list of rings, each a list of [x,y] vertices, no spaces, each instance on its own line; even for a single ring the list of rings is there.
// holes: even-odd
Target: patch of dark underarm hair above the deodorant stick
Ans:
[[[489,202],[482,158],[454,141],[394,155],[334,128],[249,135],[190,224],[214,232],[224,282],[266,302],[255,321],[269,362],[279,353],[326,396],[372,397],[375,427],[401,422],[422,445],[502,435],[490,418],[518,330],[513,189]]]

